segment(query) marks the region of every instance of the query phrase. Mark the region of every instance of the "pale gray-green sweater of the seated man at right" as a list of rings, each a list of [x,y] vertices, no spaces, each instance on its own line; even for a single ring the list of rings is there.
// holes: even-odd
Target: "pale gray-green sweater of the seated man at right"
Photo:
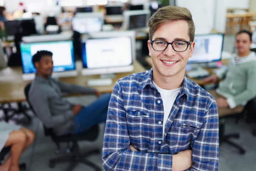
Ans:
[[[238,64],[236,56],[229,60],[228,70],[223,74],[225,79],[217,89],[217,93],[227,98],[230,108],[246,104],[256,96],[256,54],[251,52],[247,57],[240,58]]]

